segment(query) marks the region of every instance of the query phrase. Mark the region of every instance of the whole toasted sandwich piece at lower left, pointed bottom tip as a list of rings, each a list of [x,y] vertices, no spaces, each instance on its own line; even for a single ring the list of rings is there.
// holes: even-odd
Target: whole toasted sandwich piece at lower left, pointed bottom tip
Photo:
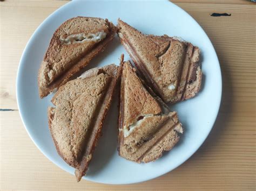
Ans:
[[[49,129],[59,155],[76,168],[77,181],[87,171],[120,74],[116,65],[87,70],[52,98]]]

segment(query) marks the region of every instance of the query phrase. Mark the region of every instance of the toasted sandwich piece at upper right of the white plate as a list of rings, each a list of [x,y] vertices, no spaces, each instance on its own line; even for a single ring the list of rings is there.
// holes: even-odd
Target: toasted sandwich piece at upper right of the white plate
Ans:
[[[143,34],[120,19],[118,36],[140,74],[165,102],[198,93],[202,78],[198,47],[180,38]]]

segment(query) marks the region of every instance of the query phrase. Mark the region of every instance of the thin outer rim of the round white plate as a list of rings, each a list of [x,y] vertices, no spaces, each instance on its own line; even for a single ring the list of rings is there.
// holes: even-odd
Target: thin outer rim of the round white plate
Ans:
[[[79,0],[78,0],[78,1],[79,1]],[[33,38],[35,38],[37,31],[38,31],[39,29],[41,29],[41,27],[42,27],[43,24],[46,22],[46,20],[48,20],[48,19],[50,19],[51,17],[53,17],[53,15],[58,14],[58,11],[59,11],[60,9],[63,9],[63,7],[69,6],[70,4],[76,3],[76,2],[78,2],[78,1],[71,1],[71,2],[68,2],[68,3],[66,3],[66,4],[64,4],[64,5],[62,5],[62,6],[60,6],[58,9],[56,9],[55,11],[53,11],[48,17],[46,17],[46,18],[43,20],[43,22],[37,27],[37,29],[32,33],[32,35],[31,35],[31,37],[30,37],[28,43],[26,44],[26,46],[25,46],[25,48],[24,48],[24,50],[23,50],[21,59],[20,59],[20,61],[19,61],[18,70],[17,70],[17,77],[16,77],[16,100],[17,100],[17,105],[18,105],[19,116],[21,116],[21,120],[22,120],[22,123],[23,123],[23,126],[24,126],[26,132],[28,133],[28,135],[29,135],[30,139],[32,140],[32,142],[33,142],[33,143],[36,145],[36,147],[39,149],[39,151],[41,151],[41,152],[45,155],[46,158],[48,158],[51,162],[53,162],[53,164],[55,164],[55,165],[58,166],[59,168],[63,169],[64,171],[66,171],[66,169],[64,169],[62,166],[58,165],[58,164],[55,162],[55,160],[52,159],[52,157],[51,157],[50,155],[46,154],[46,153],[42,150],[41,146],[36,143],[36,140],[32,137],[32,135],[31,135],[29,129],[26,127],[26,125],[25,125],[26,119],[24,119],[24,116],[23,116],[23,114],[22,114],[22,112],[21,112],[21,102],[22,102],[22,100],[21,100],[21,98],[19,97],[19,91],[20,91],[20,90],[19,90],[18,84],[19,84],[19,79],[21,78],[21,68],[22,68],[22,66],[24,65],[24,61],[23,61],[23,60],[25,59],[25,55],[26,55],[26,52],[28,51],[28,47],[31,46],[32,41],[33,41]],[[104,1],[104,0],[103,0],[103,1]],[[87,2],[88,2],[88,1],[87,1]],[[115,2],[115,1],[111,1],[111,2]],[[216,98],[216,99],[217,99],[217,103],[218,103],[218,109],[215,111],[215,114],[214,114],[214,116],[213,116],[214,120],[213,120],[212,124],[209,125],[209,127],[211,126],[211,128],[208,129],[207,136],[206,136],[204,139],[202,139],[203,141],[201,142],[201,144],[199,144],[199,146],[198,146],[195,150],[193,150],[193,152],[191,152],[191,154],[189,154],[189,157],[188,157],[188,158],[185,158],[184,160],[181,160],[181,161],[180,161],[174,168],[172,168],[172,169],[167,168],[167,170],[166,170],[164,173],[161,173],[161,175],[164,175],[164,174],[166,174],[166,173],[169,173],[169,172],[173,171],[174,169],[176,169],[177,167],[179,167],[179,166],[180,166],[181,164],[183,164],[185,161],[187,161],[188,159],[190,159],[190,158],[192,157],[192,155],[198,151],[198,149],[201,147],[201,145],[203,145],[203,143],[205,142],[206,138],[210,135],[210,132],[211,132],[211,130],[213,129],[213,126],[214,126],[215,122],[217,121],[217,117],[218,117],[219,110],[220,110],[220,103],[221,103],[222,91],[223,91],[223,80],[222,80],[222,74],[221,74],[221,68],[220,68],[220,62],[219,62],[219,59],[218,59],[218,55],[217,55],[217,53],[216,53],[216,51],[215,51],[215,48],[214,48],[214,46],[213,46],[213,44],[212,44],[210,38],[207,36],[207,34],[206,34],[206,32],[204,31],[204,29],[199,25],[199,23],[197,22],[196,19],[194,19],[191,15],[189,15],[185,10],[181,9],[178,5],[176,5],[176,4],[174,4],[174,3],[170,2],[170,1],[167,1],[167,0],[165,0],[165,1],[163,1],[163,2],[171,3],[176,9],[179,9],[179,11],[183,12],[183,13],[186,15],[186,17],[190,17],[190,18],[194,21],[194,23],[197,24],[198,27],[203,31],[203,33],[205,34],[205,36],[206,36],[207,39],[209,40],[210,45],[211,45],[211,48],[213,49],[213,52],[212,52],[212,53],[214,54],[214,57],[215,57],[215,59],[216,59],[216,62],[218,63],[218,70],[219,70],[219,74],[220,74],[220,76],[219,76],[219,81],[220,81],[220,87],[219,87],[219,89],[220,89],[220,93],[219,93],[219,97]],[[71,172],[69,172],[69,171],[66,171],[66,172],[71,173]],[[74,174],[74,173],[71,173],[71,174]],[[113,182],[97,181],[97,180],[93,180],[93,178],[92,178],[92,179],[91,179],[91,178],[87,178],[87,176],[83,176],[83,179],[89,180],[89,181],[93,181],[93,182],[97,182],[97,183],[105,183],[105,184],[109,184],[109,185],[125,185],[125,184],[139,183],[139,182],[144,182],[144,181],[147,181],[147,180],[152,180],[152,179],[155,179],[155,178],[157,178],[157,177],[159,177],[159,176],[161,176],[161,175],[151,176],[150,178],[147,176],[147,178],[141,178],[141,179],[139,179],[139,180],[137,180],[137,181],[127,181],[127,180],[125,180],[125,181],[126,181],[125,183],[124,183],[124,182],[114,182],[114,181],[113,181]]]

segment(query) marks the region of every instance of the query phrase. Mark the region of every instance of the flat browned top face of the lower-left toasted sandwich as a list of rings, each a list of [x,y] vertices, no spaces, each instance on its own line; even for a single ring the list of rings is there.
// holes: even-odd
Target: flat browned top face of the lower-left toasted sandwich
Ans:
[[[56,108],[52,109],[54,116],[51,132],[60,155],[73,167],[80,160],[86,134],[91,128],[109,80],[109,76],[104,74],[90,79],[72,80],[60,87],[53,97],[52,103]]]

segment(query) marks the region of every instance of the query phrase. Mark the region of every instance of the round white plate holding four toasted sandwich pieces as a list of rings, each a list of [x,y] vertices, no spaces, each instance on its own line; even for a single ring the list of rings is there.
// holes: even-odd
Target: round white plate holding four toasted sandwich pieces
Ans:
[[[114,24],[120,17],[143,33],[179,36],[201,49],[204,76],[200,93],[171,107],[178,111],[185,128],[184,135],[173,150],[149,164],[136,164],[119,157],[116,97],[103,127],[103,137],[99,140],[89,172],[84,178],[95,182],[124,184],[150,180],[172,171],[198,150],[212,129],[221,100],[221,72],[217,55],[203,29],[184,10],[168,1],[74,1],[46,18],[26,45],[18,68],[18,108],[29,136],[47,158],[65,171],[74,173],[74,169],[59,157],[53,145],[47,119],[47,108],[51,105],[52,96],[43,100],[39,98],[37,73],[53,32],[65,20],[76,16],[107,18]],[[116,37],[106,51],[93,59],[89,68],[109,63],[118,65],[122,53],[125,54],[125,60],[129,59]]]

